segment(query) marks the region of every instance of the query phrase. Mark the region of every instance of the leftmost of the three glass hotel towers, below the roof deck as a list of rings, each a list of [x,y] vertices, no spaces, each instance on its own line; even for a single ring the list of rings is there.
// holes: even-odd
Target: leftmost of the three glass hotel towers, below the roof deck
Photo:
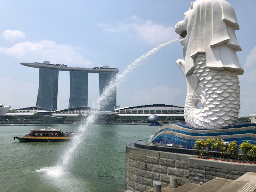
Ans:
[[[39,68],[39,88],[36,105],[46,109],[57,109],[59,70]]]

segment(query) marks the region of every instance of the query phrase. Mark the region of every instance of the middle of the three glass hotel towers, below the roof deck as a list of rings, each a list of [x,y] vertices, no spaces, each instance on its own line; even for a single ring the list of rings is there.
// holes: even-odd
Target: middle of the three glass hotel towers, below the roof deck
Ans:
[[[68,108],[88,106],[88,71],[70,71]]]

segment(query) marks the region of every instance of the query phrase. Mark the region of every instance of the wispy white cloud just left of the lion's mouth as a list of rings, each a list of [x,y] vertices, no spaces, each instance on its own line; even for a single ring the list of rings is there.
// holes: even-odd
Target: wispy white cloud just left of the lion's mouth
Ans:
[[[122,23],[118,27],[113,27],[107,24],[98,24],[98,26],[103,27],[105,31],[115,33],[115,32],[135,32],[137,37],[145,40],[149,44],[160,44],[165,41],[169,41],[176,38],[178,35],[174,31],[174,27],[165,26],[164,24],[155,24],[151,20],[147,20],[142,23],[142,20],[133,15],[131,19],[135,20],[134,23]]]

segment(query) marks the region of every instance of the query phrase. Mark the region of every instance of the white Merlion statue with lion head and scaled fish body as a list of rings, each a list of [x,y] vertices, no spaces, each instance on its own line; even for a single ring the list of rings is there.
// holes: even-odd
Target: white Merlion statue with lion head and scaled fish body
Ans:
[[[237,75],[244,73],[236,55],[242,49],[235,11],[224,0],[197,0],[184,17],[175,32],[184,46],[183,60],[176,63],[187,81],[186,123],[196,129],[233,126],[240,109]]]

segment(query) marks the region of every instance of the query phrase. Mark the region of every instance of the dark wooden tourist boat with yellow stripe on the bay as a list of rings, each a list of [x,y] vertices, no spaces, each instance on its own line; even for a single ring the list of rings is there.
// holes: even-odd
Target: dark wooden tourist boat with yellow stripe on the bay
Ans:
[[[22,142],[63,142],[70,141],[74,136],[74,132],[61,132],[60,129],[46,127],[45,129],[31,129],[30,133],[24,137],[13,137]]]

